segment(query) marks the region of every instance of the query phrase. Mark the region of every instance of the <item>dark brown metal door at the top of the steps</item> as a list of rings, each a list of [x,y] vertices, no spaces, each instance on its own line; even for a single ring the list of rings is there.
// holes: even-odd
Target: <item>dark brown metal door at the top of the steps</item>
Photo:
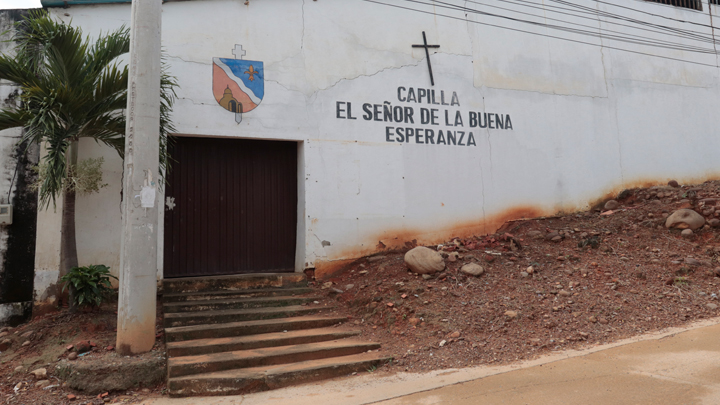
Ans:
[[[170,156],[166,278],[294,271],[296,143],[177,137]]]

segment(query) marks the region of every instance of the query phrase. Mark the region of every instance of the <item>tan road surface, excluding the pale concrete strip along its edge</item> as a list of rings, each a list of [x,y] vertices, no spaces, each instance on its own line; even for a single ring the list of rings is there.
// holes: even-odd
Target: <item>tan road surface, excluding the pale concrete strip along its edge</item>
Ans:
[[[406,404],[720,404],[720,326],[382,401]]]

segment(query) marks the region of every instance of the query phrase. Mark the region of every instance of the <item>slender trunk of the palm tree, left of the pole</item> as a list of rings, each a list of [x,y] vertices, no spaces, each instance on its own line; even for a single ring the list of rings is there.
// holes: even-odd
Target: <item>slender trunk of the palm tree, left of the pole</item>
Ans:
[[[71,167],[77,166],[78,142],[73,141],[67,151],[68,173]],[[63,210],[60,239],[60,276],[67,274],[73,267],[78,266],[77,239],[75,238],[75,190],[63,190]],[[77,310],[75,294],[72,286],[68,287],[70,294],[68,305],[71,311]]]

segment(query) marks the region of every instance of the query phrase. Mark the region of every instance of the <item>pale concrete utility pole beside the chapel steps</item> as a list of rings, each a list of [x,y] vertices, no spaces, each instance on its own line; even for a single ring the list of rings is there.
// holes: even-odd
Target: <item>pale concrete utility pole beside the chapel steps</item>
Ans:
[[[117,352],[155,344],[161,0],[133,0],[123,175]]]

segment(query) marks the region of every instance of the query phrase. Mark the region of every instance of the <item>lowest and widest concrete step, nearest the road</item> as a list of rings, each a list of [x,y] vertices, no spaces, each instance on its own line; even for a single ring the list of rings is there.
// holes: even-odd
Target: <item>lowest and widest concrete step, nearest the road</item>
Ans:
[[[240,395],[372,370],[391,360],[377,352],[198,374],[168,380],[170,396]]]

